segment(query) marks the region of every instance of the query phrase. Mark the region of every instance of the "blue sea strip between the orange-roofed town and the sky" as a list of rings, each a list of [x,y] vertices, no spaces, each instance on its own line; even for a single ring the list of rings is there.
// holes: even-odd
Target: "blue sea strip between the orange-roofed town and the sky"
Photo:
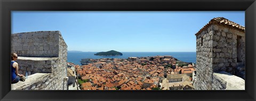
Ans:
[[[118,58],[127,59],[129,57],[154,57],[154,56],[172,56],[183,62],[196,63],[196,52],[121,52],[123,56],[95,56],[97,52],[73,52],[68,51],[68,62],[75,65],[81,65],[82,59],[102,59]]]

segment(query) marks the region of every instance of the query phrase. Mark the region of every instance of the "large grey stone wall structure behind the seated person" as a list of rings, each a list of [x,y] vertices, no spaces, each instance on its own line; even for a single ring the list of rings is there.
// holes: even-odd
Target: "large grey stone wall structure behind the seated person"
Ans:
[[[46,87],[39,90],[67,89],[67,45],[59,31],[12,34],[11,52],[18,54],[20,74],[25,75],[26,71],[32,77],[36,73],[51,74]]]

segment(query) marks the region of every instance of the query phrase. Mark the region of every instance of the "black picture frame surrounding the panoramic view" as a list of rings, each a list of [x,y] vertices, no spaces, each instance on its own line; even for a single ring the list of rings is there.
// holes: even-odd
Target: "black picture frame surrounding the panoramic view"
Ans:
[[[255,0],[1,0],[0,11],[0,100],[255,100]],[[245,11],[245,90],[11,90],[11,11]]]

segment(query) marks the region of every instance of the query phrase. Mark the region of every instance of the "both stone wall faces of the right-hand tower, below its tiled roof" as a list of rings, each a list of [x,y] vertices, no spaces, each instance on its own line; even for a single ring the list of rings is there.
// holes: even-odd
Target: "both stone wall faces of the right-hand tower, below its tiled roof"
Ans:
[[[209,32],[209,34],[203,32]],[[242,36],[238,37],[237,35]],[[236,31],[236,29],[213,24],[198,34],[196,38],[196,89],[226,89],[229,84],[221,80],[222,77],[215,76],[214,72],[220,70],[231,74],[236,74],[237,71],[242,72],[242,69],[236,69],[236,62],[237,58],[242,62],[245,61],[244,33]],[[201,45],[201,38],[203,38],[203,45]],[[237,44],[239,44],[239,50],[237,49]],[[243,73],[239,73],[239,75],[242,75],[239,77],[245,76]],[[244,86],[244,84],[242,85]]]

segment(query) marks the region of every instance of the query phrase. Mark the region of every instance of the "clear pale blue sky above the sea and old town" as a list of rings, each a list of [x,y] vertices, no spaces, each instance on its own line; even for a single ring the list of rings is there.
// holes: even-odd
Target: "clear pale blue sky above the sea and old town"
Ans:
[[[245,12],[12,11],[12,33],[60,31],[68,51],[195,52],[214,17],[245,26]]]

